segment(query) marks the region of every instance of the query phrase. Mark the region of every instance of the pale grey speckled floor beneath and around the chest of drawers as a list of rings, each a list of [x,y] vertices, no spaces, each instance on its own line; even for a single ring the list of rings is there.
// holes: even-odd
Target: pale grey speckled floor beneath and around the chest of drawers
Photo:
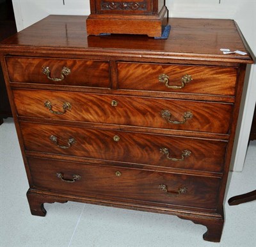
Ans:
[[[1,247],[54,246],[256,246],[256,201],[225,202],[221,243],[202,239],[206,227],[175,216],[83,203],[45,203],[46,217],[32,216],[28,182],[12,118],[0,126]],[[256,141],[242,173],[231,173],[227,198],[256,188]]]

